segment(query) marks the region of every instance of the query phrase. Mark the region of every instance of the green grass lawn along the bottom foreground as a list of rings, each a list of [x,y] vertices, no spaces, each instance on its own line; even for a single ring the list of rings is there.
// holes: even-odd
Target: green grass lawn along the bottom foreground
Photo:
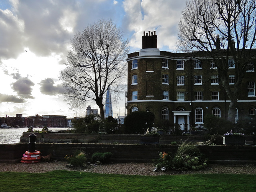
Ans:
[[[129,176],[68,172],[0,172],[1,192],[255,192],[256,175]]]

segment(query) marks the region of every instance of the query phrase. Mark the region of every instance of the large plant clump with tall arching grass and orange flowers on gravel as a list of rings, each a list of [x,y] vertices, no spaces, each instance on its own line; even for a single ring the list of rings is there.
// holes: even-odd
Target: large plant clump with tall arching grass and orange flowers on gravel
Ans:
[[[160,152],[154,171],[200,170],[207,167],[207,160],[191,142],[182,142],[175,154]]]

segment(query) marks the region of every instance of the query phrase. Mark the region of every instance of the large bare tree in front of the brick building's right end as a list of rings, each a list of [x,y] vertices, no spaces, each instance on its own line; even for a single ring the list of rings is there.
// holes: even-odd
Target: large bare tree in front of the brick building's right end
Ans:
[[[255,58],[255,0],[189,0],[182,10],[178,47],[199,50],[212,58],[230,105],[228,120],[234,122],[238,94],[246,67]],[[234,60],[235,84],[229,85],[229,59]]]

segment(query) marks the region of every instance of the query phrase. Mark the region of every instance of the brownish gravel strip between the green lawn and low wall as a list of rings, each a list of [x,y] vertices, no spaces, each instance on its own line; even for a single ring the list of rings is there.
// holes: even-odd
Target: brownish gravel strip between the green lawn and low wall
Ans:
[[[210,164],[206,169],[194,171],[166,171],[166,172],[153,172],[154,165],[152,163],[111,163],[104,165],[88,165],[87,167],[66,167],[67,162],[52,161],[52,162],[39,162],[35,164],[6,164],[0,163],[0,172],[30,172],[30,173],[43,173],[52,170],[68,170],[80,172],[92,172],[102,174],[125,174],[125,175],[176,175],[176,174],[256,174],[256,166],[249,165],[234,165],[224,166],[219,164]]]

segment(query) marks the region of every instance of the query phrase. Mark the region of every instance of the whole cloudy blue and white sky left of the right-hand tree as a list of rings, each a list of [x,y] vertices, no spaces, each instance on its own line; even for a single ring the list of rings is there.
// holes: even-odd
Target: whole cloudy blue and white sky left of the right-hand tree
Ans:
[[[64,102],[59,80],[70,40],[99,19],[112,19],[142,48],[143,31],[156,31],[157,48],[176,50],[178,22],[186,0],[0,0],[0,117],[64,115],[82,117],[86,107]],[[127,81],[127,77],[124,77]],[[113,116],[125,115],[125,96]],[[86,106],[98,108],[95,103]]]

